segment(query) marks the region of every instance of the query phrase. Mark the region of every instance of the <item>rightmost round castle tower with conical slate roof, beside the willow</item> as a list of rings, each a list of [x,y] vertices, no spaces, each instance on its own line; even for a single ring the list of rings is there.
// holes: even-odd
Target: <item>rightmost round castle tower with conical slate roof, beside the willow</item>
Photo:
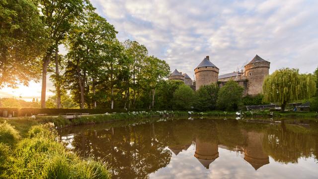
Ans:
[[[263,81],[269,74],[270,62],[256,55],[244,66],[245,77],[248,80],[247,94],[256,95],[262,92]]]

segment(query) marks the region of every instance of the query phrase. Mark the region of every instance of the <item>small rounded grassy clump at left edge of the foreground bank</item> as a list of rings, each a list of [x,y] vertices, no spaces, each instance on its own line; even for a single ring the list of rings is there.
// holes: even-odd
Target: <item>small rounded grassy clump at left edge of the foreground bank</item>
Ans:
[[[13,145],[20,138],[19,132],[6,121],[0,124],[0,143]]]

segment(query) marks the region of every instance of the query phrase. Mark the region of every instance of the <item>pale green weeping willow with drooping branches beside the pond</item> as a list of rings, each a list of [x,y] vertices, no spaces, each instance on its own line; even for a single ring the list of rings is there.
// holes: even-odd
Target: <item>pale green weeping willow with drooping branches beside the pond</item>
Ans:
[[[280,103],[282,111],[288,102],[309,99],[315,92],[316,83],[312,75],[299,74],[298,69],[276,70],[263,83],[263,100]]]

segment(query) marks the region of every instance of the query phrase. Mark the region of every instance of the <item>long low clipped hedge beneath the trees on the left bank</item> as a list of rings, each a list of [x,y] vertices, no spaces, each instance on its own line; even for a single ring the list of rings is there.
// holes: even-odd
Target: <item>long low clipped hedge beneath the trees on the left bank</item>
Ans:
[[[104,114],[106,112],[128,112],[128,111],[148,111],[147,109],[67,109],[67,108],[6,108],[0,107],[0,116],[4,110],[8,111],[8,114],[14,116],[31,116],[37,114],[47,115],[59,115],[60,113],[89,113],[89,114]]]

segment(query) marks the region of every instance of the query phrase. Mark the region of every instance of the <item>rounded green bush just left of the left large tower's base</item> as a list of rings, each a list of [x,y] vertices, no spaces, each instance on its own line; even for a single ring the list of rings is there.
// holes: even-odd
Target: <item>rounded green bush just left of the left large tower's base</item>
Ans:
[[[194,102],[194,91],[189,86],[182,84],[173,93],[173,108],[177,110],[189,110]]]

